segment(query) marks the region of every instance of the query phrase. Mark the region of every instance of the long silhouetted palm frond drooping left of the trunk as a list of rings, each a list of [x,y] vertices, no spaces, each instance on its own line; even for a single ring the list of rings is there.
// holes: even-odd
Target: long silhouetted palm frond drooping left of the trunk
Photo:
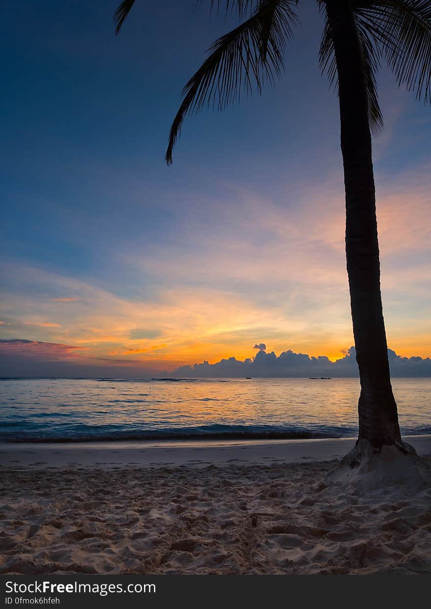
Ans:
[[[184,99],[169,132],[167,164],[172,163],[172,150],[187,115],[206,105],[221,110],[239,99],[242,90],[261,92],[265,80],[273,83],[279,76],[286,41],[298,21],[293,4],[294,0],[259,0],[247,21],[212,44],[209,57],[181,93]]]

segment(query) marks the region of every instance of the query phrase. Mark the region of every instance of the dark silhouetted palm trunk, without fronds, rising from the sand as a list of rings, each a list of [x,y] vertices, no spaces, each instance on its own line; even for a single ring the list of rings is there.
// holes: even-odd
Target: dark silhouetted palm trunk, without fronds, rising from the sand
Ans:
[[[359,365],[359,441],[374,451],[402,448],[392,393],[380,295],[368,97],[362,47],[349,0],[326,0],[334,40],[340,99],[341,148],[346,191],[346,258]]]

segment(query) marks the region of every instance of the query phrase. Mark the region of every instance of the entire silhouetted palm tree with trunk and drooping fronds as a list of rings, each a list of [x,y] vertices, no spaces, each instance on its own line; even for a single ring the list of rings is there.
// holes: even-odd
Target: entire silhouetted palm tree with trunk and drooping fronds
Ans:
[[[116,10],[116,33],[135,0]],[[284,51],[298,24],[298,0],[211,0],[211,8],[236,10],[242,23],[216,40],[183,89],[166,152],[184,118],[208,105],[224,108],[240,91],[262,90],[284,68]],[[384,58],[399,85],[431,101],[431,0],[317,0],[325,23],[320,66],[338,92],[346,194],[346,258],[356,359],[360,374],[359,438],[348,456],[358,465],[382,446],[413,453],[401,440],[388,364],[380,295],[371,132],[382,128],[376,72]],[[247,13],[247,14],[246,14]],[[393,448],[391,448],[393,451]],[[398,451],[395,451],[398,452]]]

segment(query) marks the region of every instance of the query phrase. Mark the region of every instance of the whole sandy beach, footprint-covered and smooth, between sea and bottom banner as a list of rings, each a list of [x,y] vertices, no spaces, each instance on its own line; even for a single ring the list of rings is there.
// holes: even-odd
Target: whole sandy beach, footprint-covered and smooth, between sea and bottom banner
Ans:
[[[329,482],[353,442],[2,445],[0,572],[431,572],[430,488]]]

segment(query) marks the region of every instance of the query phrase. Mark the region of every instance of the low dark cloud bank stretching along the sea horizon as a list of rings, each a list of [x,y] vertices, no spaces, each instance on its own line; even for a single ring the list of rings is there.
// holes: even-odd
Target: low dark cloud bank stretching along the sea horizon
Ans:
[[[152,370],[142,361],[111,358],[88,358],[83,361],[80,350],[70,345],[35,342],[32,340],[0,340],[0,377],[61,376],[73,378],[149,378],[170,376],[180,378],[271,378],[331,376],[352,378],[358,376],[355,349],[336,362],[326,356],[310,357],[303,353],[284,351],[276,356],[267,353],[264,343],[254,347],[258,352],[253,359],[244,362],[230,357],[216,364],[181,366],[175,370]],[[431,377],[431,359],[426,357],[401,357],[388,349],[392,376]]]

